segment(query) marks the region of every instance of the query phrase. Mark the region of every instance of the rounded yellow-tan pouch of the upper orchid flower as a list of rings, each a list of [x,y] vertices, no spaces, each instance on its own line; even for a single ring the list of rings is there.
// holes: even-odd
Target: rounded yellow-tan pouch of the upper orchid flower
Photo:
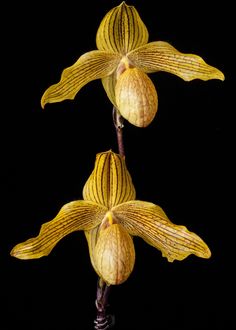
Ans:
[[[141,70],[128,68],[117,79],[116,104],[121,115],[138,127],[148,126],[157,112],[157,92]]]

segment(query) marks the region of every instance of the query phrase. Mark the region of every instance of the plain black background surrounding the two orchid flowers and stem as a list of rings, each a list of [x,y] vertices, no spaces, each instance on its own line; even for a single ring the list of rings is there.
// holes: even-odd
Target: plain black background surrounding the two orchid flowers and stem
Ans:
[[[82,232],[39,260],[17,260],[9,252],[37,235],[63,204],[82,198],[96,153],[117,151],[112,105],[99,80],[74,101],[42,110],[40,99],[65,67],[96,48],[101,19],[119,3],[2,7],[1,330],[92,329],[97,276]],[[199,234],[212,257],[168,263],[135,238],[134,271],[111,291],[115,329],[233,329],[232,8],[206,1],[127,4],[139,11],[150,41],[165,40],[202,56],[226,80],[187,83],[168,73],[152,74],[159,96],[156,118],[145,129],[125,122],[137,198],[160,205],[174,223]]]

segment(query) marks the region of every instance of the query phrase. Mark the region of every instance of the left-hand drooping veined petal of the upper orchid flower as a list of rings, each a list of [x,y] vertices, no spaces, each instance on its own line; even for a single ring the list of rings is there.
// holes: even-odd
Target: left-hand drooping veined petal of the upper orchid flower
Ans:
[[[42,108],[46,103],[74,99],[78,91],[92,80],[106,77],[116,69],[120,55],[94,50],[82,55],[72,66],[63,70],[59,83],[50,86],[41,99]]]

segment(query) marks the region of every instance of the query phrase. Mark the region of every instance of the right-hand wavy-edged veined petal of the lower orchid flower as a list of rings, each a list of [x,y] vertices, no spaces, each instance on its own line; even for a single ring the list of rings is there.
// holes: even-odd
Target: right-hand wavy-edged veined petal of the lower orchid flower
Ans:
[[[129,201],[114,207],[112,213],[131,235],[142,237],[159,249],[168,261],[183,260],[189,254],[201,258],[211,256],[208,246],[198,235],[173,224],[153,203]]]

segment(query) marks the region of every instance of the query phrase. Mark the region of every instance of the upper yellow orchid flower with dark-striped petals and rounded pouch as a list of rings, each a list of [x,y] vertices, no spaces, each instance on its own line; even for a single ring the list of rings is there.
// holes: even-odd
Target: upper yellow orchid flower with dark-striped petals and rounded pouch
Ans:
[[[156,89],[147,73],[166,71],[190,81],[220,79],[223,73],[201,57],[183,54],[169,43],[148,43],[148,31],[133,6],[122,2],[103,18],[96,36],[97,50],[82,55],[66,68],[59,83],[43,94],[41,105],[74,99],[95,79],[120,114],[131,124],[146,127],[157,112]]]

